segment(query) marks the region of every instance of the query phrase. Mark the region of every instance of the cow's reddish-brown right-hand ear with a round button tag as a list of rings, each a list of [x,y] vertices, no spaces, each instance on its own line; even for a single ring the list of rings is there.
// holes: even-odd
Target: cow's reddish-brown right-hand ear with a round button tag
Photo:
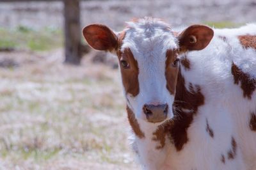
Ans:
[[[211,27],[189,26],[178,36],[180,51],[202,50],[211,42],[213,35]]]

